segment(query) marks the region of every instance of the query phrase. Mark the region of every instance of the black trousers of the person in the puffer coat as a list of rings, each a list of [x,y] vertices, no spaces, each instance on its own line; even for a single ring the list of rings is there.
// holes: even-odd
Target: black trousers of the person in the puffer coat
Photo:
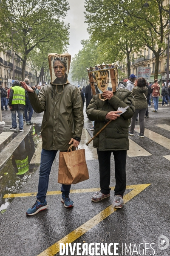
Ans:
[[[111,153],[113,153],[115,163],[116,186],[114,194],[123,196],[123,193],[126,190],[126,150],[99,151],[97,149],[100,173],[100,192],[102,194],[109,194],[111,190],[109,187],[111,180]]]

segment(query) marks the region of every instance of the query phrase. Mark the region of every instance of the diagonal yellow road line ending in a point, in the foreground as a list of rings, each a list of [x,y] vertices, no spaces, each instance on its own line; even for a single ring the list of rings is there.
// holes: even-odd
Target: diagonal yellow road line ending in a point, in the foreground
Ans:
[[[150,184],[127,186],[130,188],[133,188],[133,190],[123,197],[124,204],[126,204],[128,201],[130,201],[130,199],[134,198],[136,195],[142,192],[142,190],[146,189],[147,186],[150,186]],[[67,236],[63,237],[61,240],[57,241],[55,244],[48,247],[38,256],[54,256],[55,254],[59,253],[60,243],[63,243],[65,245],[66,243],[72,243],[73,241],[78,239],[80,236],[84,235],[92,227],[96,226],[99,222],[103,221],[105,218],[107,218],[109,215],[111,215],[115,211],[116,209],[113,207],[113,205],[110,205],[109,207],[104,209],[102,212],[98,213],[93,218],[91,218],[89,221],[82,224],[76,230],[72,231]]]

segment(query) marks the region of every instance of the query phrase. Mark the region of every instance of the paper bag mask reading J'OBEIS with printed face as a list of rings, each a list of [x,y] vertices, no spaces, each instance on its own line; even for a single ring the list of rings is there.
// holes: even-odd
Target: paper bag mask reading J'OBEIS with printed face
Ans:
[[[49,53],[48,63],[51,75],[51,84],[67,84],[70,69],[71,55],[69,53]]]

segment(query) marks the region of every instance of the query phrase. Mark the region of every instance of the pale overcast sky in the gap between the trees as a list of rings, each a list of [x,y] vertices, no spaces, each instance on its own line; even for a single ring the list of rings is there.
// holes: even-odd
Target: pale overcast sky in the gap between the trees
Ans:
[[[82,48],[80,41],[88,39],[87,32],[88,24],[85,23],[84,15],[84,0],[68,0],[70,10],[65,19],[65,23],[70,23],[70,45],[68,46],[68,53],[73,57]]]

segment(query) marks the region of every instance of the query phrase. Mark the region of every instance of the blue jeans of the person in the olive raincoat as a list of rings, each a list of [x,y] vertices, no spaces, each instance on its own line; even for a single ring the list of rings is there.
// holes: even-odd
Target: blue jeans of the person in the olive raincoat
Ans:
[[[43,203],[46,198],[51,166],[54,162],[56,154],[57,154],[57,150],[45,150],[42,148],[40,176],[39,176],[38,193],[37,193],[37,200],[39,200],[41,203]],[[69,195],[70,188],[71,188],[71,185],[62,184],[62,187],[61,187],[62,195]]]

